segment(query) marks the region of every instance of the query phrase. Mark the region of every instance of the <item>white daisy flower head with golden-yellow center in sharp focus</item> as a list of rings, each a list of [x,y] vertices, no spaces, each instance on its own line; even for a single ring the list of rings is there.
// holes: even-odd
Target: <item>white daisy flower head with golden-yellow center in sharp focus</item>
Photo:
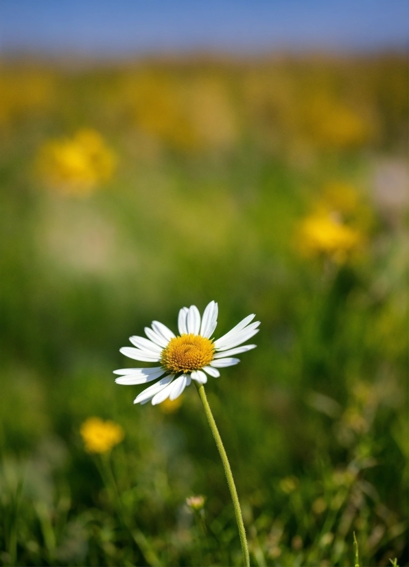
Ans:
[[[176,400],[191,380],[199,384],[207,382],[207,375],[218,378],[219,368],[233,366],[239,361],[233,355],[255,349],[256,345],[242,345],[259,332],[260,322],[251,323],[255,315],[248,315],[224,336],[211,338],[218,324],[218,304],[211,301],[202,318],[196,305],[183,307],[179,311],[176,336],[159,321],[152,321],[152,327],[145,327],[142,336],[131,336],[134,347],[124,347],[120,352],[128,358],[142,362],[159,362],[154,368],[123,368],[115,370],[120,378],[117,384],[146,384],[158,380],[135,398],[134,404],[161,404],[168,397]]]

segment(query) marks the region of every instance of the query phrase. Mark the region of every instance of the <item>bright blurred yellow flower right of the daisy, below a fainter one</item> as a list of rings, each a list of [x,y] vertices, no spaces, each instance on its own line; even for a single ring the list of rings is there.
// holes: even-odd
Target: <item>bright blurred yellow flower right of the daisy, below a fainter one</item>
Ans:
[[[334,212],[318,211],[307,216],[299,230],[299,245],[306,255],[327,255],[339,264],[361,242],[360,232],[344,224]]]

